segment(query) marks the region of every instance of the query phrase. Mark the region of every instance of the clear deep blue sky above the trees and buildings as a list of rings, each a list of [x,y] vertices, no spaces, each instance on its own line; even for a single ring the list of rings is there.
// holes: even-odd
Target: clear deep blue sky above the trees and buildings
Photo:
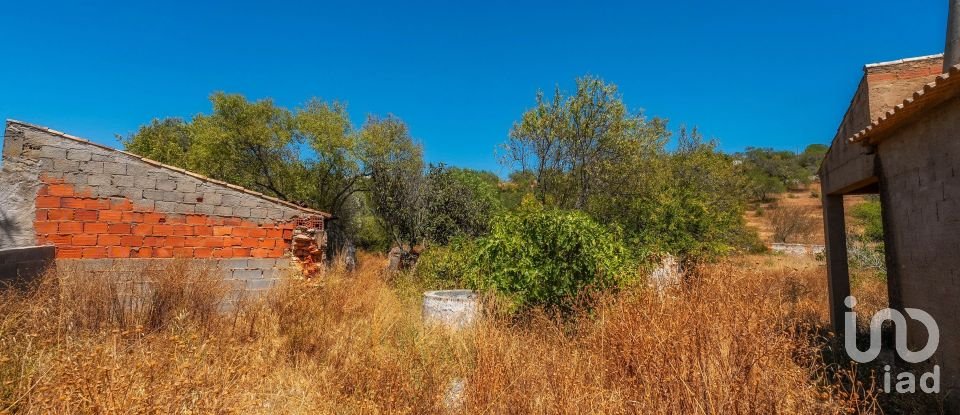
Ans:
[[[118,145],[212,91],[404,119],[430,161],[504,174],[537,89],[578,75],[722,148],[826,143],[864,63],[939,53],[947,1],[0,5],[0,118]],[[352,4],[347,4],[352,3]]]

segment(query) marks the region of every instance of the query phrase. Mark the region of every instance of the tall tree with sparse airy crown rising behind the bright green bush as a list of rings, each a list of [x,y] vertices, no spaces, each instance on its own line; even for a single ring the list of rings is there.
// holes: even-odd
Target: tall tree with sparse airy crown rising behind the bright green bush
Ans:
[[[661,151],[667,137],[664,122],[628,111],[615,85],[590,76],[576,83],[571,96],[557,88],[546,100],[538,92],[504,146],[506,162],[535,177],[537,198],[565,209],[615,192],[631,180],[623,166]]]

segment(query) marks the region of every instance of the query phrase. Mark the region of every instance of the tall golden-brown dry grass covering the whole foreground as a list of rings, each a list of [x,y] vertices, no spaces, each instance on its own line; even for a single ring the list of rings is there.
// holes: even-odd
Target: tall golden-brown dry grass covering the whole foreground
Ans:
[[[822,268],[770,261],[461,334],[424,326],[423,287],[378,257],[229,308],[185,265],[150,290],[61,270],[0,299],[0,413],[444,413],[457,378],[464,413],[875,411],[821,358]]]

